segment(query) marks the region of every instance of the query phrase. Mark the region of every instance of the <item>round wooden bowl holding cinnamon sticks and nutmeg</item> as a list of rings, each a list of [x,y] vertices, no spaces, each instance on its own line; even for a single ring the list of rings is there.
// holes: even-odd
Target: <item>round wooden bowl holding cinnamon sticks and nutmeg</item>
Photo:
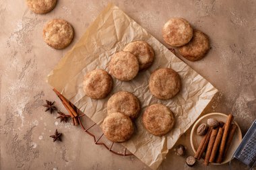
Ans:
[[[203,136],[197,135],[197,127],[201,123],[207,124],[207,119],[209,119],[209,118],[215,118],[216,120],[222,121],[225,123],[228,116],[226,114],[220,114],[220,113],[206,114],[205,116],[199,118],[199,120],[197,120],[197,122],[195,122],[195,124],[191,130],[191,134],[190,134],[190,143],[191,143],[194,153],[196,153],[197,148],[201,142],[201,139],[203,138]],[[231,142],[230,148],[228,149],[228,153],[227,153],[226,157],[224,158],[222,163],[212,163],[212,165],[222,165],[222,164],[228,163],[228,161],[230,161],[230,158],[232,157],[234,151],[236,151],[237,146],[241,143],[241,141],[242,141],[241,129],[239,128],[239,126],[236,122],[234,122],[234,124],[236,124],[237,128],[236,128],[236,132],[234,133],[234,138]]]

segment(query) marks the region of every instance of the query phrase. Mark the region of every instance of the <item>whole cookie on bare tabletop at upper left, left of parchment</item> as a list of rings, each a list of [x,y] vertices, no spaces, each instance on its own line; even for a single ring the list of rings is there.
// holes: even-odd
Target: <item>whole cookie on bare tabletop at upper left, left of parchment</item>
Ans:
[[[43,38],[49,46],[63,49],[73,40],[73,28],[63,19],[53,19],[44,27]]]

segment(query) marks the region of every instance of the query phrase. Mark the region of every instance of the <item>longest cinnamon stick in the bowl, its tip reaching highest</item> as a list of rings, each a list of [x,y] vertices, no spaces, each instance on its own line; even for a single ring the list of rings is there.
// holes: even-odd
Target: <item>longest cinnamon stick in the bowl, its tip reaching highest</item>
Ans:
[[[224,150],[225,150],[225,145],[226,145],[226,139],[228,138],[228,133],[230,131],[230,126],[232,124],[232,120],[233,120],[233,116],[232,114],[228,115],[228,120],[226,120],[225,123],[225,128],[224,128],[224,132],[223,132],[223,136],[222,136],[222,141],[220,143],[220,152],[217,158],[217,163],[222,163],[223,160],[223,155],[224,155]]]

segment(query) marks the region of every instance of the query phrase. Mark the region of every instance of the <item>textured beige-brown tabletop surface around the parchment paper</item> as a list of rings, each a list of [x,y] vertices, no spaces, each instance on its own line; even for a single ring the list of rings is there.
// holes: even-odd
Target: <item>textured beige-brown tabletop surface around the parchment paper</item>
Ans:
[[[255,1],[113,2],[163,43],[160,30],[170,17],[184,17],[210,36],[212,49],[205,58],[184,60],[220,90],[205,113],[232,113],[245,133],[256,118]],[[25,1],[0,0],[0,169],[148,169],[133,156],[113,155],[95,145],[79,127],[60,124],[56,114],[44,112],[41,106],[50,99],[65,110],[45,77],[107,3],[58,1],[50,13],[36,15]],[[54,50],[42,39],[44,25],[53,18],[67,20],[75,30],[65,50]],[[49,138],[55,128],[63,133],[63,142]],[[187,146],[187,155],[192,153],[189,132],[177,142]],[[236,169],[242,168],[236,164]],[[172,150],[160,169],[189,167]],[[197,169],[204,166],[198,163]]]

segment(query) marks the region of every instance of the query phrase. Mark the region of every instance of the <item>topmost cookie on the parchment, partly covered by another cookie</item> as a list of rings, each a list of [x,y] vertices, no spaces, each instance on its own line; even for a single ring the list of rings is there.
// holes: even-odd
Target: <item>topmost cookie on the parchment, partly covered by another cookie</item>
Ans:
[[[144,41],[134,41],[125,46],[124,51],[134,54],[139,61],[139,70],[148,69],[154,60],[153,48]]]

